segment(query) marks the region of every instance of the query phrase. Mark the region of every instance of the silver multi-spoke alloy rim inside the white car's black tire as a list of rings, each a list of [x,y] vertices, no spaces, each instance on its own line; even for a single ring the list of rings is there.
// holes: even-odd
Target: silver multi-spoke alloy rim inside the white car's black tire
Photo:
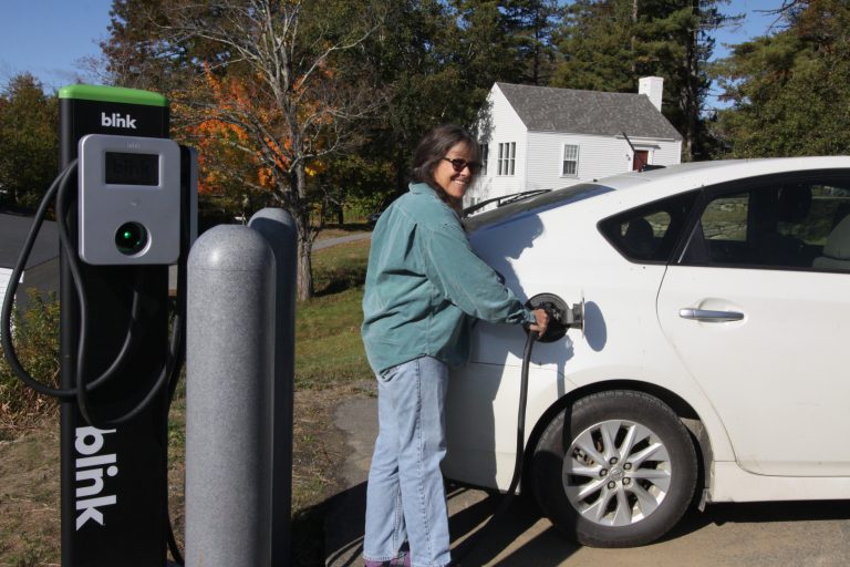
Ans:
[[[621,527],[659,509],[672,474],[667,447],[651,429],[608,420],[576,436],[563,460],[561,480],[567,498],[583,518]]]

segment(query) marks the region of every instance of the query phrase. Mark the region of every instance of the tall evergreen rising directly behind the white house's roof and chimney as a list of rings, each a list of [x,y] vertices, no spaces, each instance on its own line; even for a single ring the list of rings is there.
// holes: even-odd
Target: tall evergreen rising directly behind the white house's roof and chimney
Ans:
[[[661,76],[662,112],[682,134],[684,159],[705,158],[712,32],[730,20],[721,3],[726,0],[578,0],[560,30],[563,63],[552,84],[635,92],[641,76]]]

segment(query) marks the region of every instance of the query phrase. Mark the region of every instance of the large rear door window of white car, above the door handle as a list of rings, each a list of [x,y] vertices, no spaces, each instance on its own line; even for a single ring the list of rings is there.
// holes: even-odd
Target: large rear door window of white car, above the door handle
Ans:
[[[850,270],[849,215],[850,183],[840,179],[721,193],[703,208],[682,264]]]

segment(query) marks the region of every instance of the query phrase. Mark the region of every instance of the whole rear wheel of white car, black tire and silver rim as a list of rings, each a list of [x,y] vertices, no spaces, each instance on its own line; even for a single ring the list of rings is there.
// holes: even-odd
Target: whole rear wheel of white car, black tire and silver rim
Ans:
[[[682,518],[697,460],[670,406],[616,390],[558,413],[536,445],[530,473],[537,503],[559,530],[588,546],[634,547]]]

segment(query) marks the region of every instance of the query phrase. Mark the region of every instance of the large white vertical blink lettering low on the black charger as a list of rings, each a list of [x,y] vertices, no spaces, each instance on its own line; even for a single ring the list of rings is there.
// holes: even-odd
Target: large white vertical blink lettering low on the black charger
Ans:
[[[102,495],[104,474],[106,476],[118,474],[117,456],[114,453],[105,455],[100,453],[103,449],[103,437],[108,433],[115,433],[115,430],[76,427],[74,449],[77,458],[74,478],[77,530],[90,519],[103,526],[103,512],[100,508],[112,506],[117,502],[115,495]]]

